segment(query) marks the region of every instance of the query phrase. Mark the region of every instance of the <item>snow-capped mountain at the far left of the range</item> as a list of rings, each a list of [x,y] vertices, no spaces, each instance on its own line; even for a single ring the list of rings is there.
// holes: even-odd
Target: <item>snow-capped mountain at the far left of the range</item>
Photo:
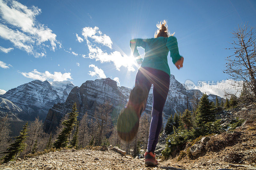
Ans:
[[[0,113],[12,113],[25,121],[36,116],[44,120],[49,109],[55,103],[65,102],[74,87],[70,81],[31,81],[0,95]]]

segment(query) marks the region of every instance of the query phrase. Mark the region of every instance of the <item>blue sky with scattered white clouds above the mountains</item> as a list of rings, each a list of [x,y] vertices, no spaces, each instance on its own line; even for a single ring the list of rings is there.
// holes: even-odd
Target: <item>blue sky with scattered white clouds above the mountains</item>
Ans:
[[[69,80],[80,86],[105,76],[132,88],[138,65],[129,42],[153,38],[156,23],[164,19],[184,56],[180,70],[168,56],[179,82],[226,80],[222,70],[225,57],[232,54],[225,50],[231,30],[247,21],[255,26],[255,16],[256,1],[250,0],[0,0],[0,89],[33,79]]]

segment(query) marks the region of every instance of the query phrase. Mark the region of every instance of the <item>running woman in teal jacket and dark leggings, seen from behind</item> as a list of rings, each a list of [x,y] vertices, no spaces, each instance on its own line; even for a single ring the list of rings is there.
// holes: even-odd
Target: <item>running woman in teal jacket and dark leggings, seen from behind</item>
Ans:
[[[184,60],[179,54],[177,39],[173,34],[170,35],[170,33],[168,33],[166,21],[161,21],[156,26],[158,30],[155,33],[155,38],[133,39],[130,41],[132,53],[134,57],[136,57],[137,63],[141,64],[141,66],[137,72],[135,87],[131,91],[129,102],[122,112],[123,115],[127,114],[126,119],[129,121],[123,119],[123,122],[121,120],[118,122],[119,124],[126,123],[126,127],[122,128],[128,129],[125,132],[119,133],[119,136],[124,140],[131,140],[137,133],[139,118],[146,108],[148,92],[153,84],[152,119],[149,129],[148,147],[144,154],[145,164],[149,166],[158,164],[155,158],[155,149],[162,128],[162,112],[170,86],[170,68],[167,63],[167,55],[170,51],[172,62],[178,69],[183,67]],[[144,48],[144,60],[140,57],[137,47]],[[136,119],[136,116],[132,116],[134,115],[132,113],[135,113],[138,119]],[[134,119],[136,119],[136,121],[133,121]],[[127,124],[129,124],[129,126],[127,126]],[[122,129],[120,126],[121,125],[117,128]],[[130,128],[130,126],[132,126],[132,128]]]

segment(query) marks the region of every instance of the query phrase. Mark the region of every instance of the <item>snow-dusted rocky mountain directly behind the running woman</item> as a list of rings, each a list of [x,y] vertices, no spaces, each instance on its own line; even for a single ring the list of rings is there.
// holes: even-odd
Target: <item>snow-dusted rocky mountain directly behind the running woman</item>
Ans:
[[[72,105],[75,102],[77,111],[79,112],[78,119],[81,119],[86,112],[89,118],[91,118],[96,107],[99,104],[103,104],[106,100],[110,100],[113,104],[112,117],[117,117],[127,104],[131,90],[132,89],[128,87],[117,86],[116,81],[110,78],[86,81],[80,87],[74,87],[65,102],[54,104],[47,114],[44,129],[48,133],[54,130],[55,127],[59,125],[61,118],[71,111]],[[202,96],[203,93],[199,90],[186,90],[185,87],[171,75],[169,93],[163,111],[164,121],[166,121],[170,115],[174,115],[176,111],[184,112],[187,107],[192,109],[191,100],[196,91]],[[218,96],[218,98],[220,97]],[[209,100],[215,101],[215,98],[209,98]],[[152,103],[153,90],[151,87],[146,112],[151,112]]]

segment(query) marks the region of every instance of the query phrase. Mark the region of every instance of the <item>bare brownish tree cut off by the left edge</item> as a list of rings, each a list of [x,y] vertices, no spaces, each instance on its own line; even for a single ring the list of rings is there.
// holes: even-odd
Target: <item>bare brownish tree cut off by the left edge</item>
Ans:
[[[9,129],[8,115],[6,114],[3,118],[0,119],[0,153],[4,152],[8,145],[9,140],[11,140],[9,134],[11,130]],[[1,156],[1,155],[0,155]]]

